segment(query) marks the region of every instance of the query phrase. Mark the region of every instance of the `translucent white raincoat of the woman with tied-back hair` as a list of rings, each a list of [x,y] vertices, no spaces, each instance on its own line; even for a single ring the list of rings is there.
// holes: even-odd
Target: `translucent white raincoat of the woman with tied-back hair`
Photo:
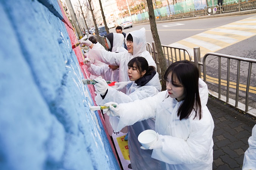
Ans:
[[[145,99],[149,96],[155,96],[159,91],[161,91],[159,74],[156,72],[155,76],[150,81],[148,81],[148,83],[144,86],[137,86],[135,82],[131,82],[128,83],[126,88],[126,94],[117,91],[114,88],[108,88],[108,93],[106,94],[103,100],[100,94],[97,94],[97,96],[95,97],[96,104],[104,105],[105,103],[111,101],[114,101],[118,104],[128,103],[134,100]],[[117,118],[109,117],[109,119],[110,121],[115,121],[114,119]],[[165,166],[164,162],[151,158],[152,150],[140,149],[140,143],[137,140],[138,136],[142,131],[147,129],[155,130],[155,118],[150,118],[144,121],[136,122],[135,124],[128,126],[128,147],[131,166],[133,170],[164,170],[162,168]]]

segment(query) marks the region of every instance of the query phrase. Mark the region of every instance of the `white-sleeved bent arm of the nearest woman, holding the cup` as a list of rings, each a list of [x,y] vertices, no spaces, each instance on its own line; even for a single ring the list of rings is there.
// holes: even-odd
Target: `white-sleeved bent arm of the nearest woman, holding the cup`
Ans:
[[[152,147],[152,158],[168,164],[195,164],[207,156],[211,159],[214,122],[208,108],[203,107],[201,120],[190,119],[183,123],[190,124],[187,140],[160,134],[158,141]]]

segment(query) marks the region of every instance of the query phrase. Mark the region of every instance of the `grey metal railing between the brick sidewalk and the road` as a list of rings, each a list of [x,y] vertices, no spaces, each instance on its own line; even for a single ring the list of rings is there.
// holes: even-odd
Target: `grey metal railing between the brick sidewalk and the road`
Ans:
[[[152,55],[153,59],[156,62],[157,65],[157,71],[159,73],[159,75],[161,75],[161,70],[160,70],[160,65],[159,65],[159,60],[158,60],[158,53],[155,50],[155,42],[152,42],[152,46],[150,45],[150,43],[147,43],[147,50],[150,52],[150,54]],[[164,56],[166,59],[166,66],[168,67],[171,63],[179,61],[179,60],[190,60],[191,62],[194,62],[195,65],[198,67],[199,70],[199,74],[201,77],[201,66],[203,66],[203,80],[204,82],[207,81],[206,79],[206,58],[208,56],[215,56],[218,57],[218,62],[219,62],[219,66],[218,66],[218,71],[219,71],[219,77],[218,77],[218,96],[214,95],[214,94],[210,94],[212,97],[215,97],[216,99],[221,100],[222,102],[225,102],[226,104],[230,105],[231,107],[236,108],[237,110],[240,110],[244,113],[247,113],[251,116],[256,117],[256,113],[255,111],[251,112],[249,110],[249,106],[248,106],[248,96],[249,96],[249,88],[250,88],[250,82],[251,82],[251,72],[252,72],[252,64],[256,63],[256,59],[247,59],[247,58],[243,58],[243,57],[236,57],[236,56],[229,56],[229,55],[225,55],[225,54],[218,54],[218,53],[207,53],[204,55],[203,57],[203,62],[201,62],[201,58],[200,58],[200,48],[199,47],[195,47],[194,48],[194,61],[192,60],[191,54],[189,53],[189,51],[187,51],[184,48],[178,48],[178,47],[173,47],[173,46],[167,46],[167,45],[162,45],[162,49],[164,52]],[[226,75],[226,99],[222,98],[222,94],[221,94],[221,85],[222,85],[222,69],[225,68],[221,68],[221,59],[226,58],[227,59],[227,67],[226,67],[226,71],[227,71],[227,75]],[[229,87],[230,87],[230,60],[236,60],[237,61],[237,76],[236,76],[236,99],[235,99],[235,103],[230,102],[229,101]],[[247,75],[247,85],[246,85],[246,92],[245,92],[245,108],[241,108],[238,106],[238,97],[239,97],[239,80],[240,80],[240,62],[247,62],[248,63],[248,75]],[[234,85],[233,85],[234,86]],[[233,87],[234,88],[234,87]],[[225,98],[225,97],[224,97]],[[255,110],[255,109],[254,109]]]

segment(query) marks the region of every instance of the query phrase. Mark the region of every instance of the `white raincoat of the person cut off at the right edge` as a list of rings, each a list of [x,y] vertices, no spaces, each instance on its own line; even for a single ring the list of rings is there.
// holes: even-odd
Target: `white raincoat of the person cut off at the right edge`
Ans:
[[[256,170],[256,125],[253,127],[248,143],[249,148],[244,153],[242,170]]]

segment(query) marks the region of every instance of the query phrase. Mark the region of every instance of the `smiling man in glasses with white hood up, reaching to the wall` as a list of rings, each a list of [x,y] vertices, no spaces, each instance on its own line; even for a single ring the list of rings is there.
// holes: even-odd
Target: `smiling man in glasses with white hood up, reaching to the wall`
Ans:
[[[86,36],[80,39],[79,42],[89,46],[91,49],[94,49],[94,44],[92,44],[92,42],[89,40],[84,40],[85,38]],[[118,90],[123,89],[127,85],[125,82],[129,81],[127,74],[128,62],[134,57],[144,57],[148,61],[148,65],[156,68],[155,61],[150,53],[146,50],[147,41],[145,28],[127,33],[125,42],[128,49],[128,51],[125,52],[111,53],[110,51],[106,50],[94,50],[94,56],[96,56],[95,60],[109,65],[119,66],[119,80],[122,82],[122,84],[118,83]]]

